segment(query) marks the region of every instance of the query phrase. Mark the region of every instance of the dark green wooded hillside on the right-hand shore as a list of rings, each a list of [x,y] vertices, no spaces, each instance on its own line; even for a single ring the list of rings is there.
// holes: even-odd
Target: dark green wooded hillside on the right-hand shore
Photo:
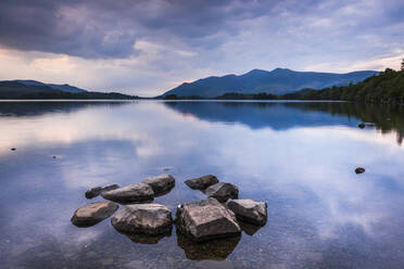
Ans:
[[[404,103],[404,71],[386,69],[356,85],[323,90],[304,89],[281,99],[344,100],[373,103]]]

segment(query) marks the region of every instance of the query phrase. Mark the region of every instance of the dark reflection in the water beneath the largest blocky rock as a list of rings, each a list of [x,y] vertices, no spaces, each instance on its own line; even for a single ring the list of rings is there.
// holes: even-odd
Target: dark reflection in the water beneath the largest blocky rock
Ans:
[[[224,260],[236,248],[241,235],[212,240],[202,243],[193,243],[190,239],[177,231],[178,246],[184,249],[185,255],[191,260]]]

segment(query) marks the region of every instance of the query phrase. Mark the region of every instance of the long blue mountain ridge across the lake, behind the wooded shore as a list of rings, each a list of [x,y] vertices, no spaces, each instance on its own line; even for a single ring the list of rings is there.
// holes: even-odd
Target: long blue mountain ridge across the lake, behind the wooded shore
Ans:
[[[301,89],[323,89],[331,86],[343,86],[359,82],[367,77],[377,75],[375,71],[359,71],[346,74],[295,72],[287,68],[276,68],[272,72],[253,69],[243,75],[227,75],[207,77],[193,82],[185,82],[165,93],[163,97],[198,95],[214,98],[224,93],[260,93],[286,94]]]

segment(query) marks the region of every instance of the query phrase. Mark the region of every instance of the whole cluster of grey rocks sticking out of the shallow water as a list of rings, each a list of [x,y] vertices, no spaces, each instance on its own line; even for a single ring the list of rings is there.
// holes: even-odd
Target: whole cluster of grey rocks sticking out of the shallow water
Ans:
[[[201,190],[206,200],[179,204],[176,212],[177,230],[192,242],[203,242],[237,236],[241,233],[240,222],[264,226],[267,220],[267,204],[252,200],[239,200],[239,190],[228,182],[219,182],[215,176],[193,178],[185,183],[194,190]],[[151,204],[154,196],[169,192],[175,187],[171,175],[147,178],[141,183],[119,188],[117,184],[94,188],[86,192],[86,197],[101,195],[112,202],[96,202],[78,208],[72,222],[76,226],[92,226],[112,216],[112,226],[119,232],[134,235],[134,241],[143,242],[143,238],[164,236],[173,229],[172,212],[164,205]],[[129,204],[129,205],[128,205]],[[160,236],[160,238],[161,238]],[[156,243],[156,241],[151,241]]]

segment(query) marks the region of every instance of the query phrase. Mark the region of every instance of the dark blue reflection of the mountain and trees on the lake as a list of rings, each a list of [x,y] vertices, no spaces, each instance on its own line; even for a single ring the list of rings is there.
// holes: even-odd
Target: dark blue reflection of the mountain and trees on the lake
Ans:
[[[373,123],[382,133],[394,132],[397,143],[404,139],[404,107],[348,102],[166,102],[166,106],[199,119],[239,123],[252,129]],[[295,113],[295,111],[305,113]]]

